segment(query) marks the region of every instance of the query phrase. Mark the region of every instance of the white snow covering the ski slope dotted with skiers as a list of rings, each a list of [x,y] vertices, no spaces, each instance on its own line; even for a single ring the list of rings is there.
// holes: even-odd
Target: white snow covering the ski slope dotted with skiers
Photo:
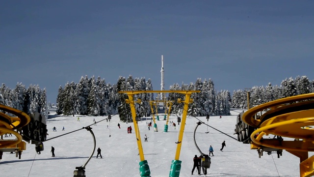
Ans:
[[[232,116],[211,116],[209,125],[201,124],[196,131],[196,143],[202,152],[208,153],[209,145],[214,149],[211,158],[211,166],[207,177],[298,177],[299,158],[283,151],[283,155],[277,158],[273,152],[271,155],[263,154],[259,158],[256,150],[251,150],[249,144],[237,142],[234,138],[236,116],[240,111],[231,111]],[[50,114],[54,113],[50,110]],[[79,117],[80,121],[77,121]],[[143,118],[138,122],[145,160],[151,170],[152,177],[169,177],[171,161],[174,160],[178,141],[179,126],[176,117],[170,120],[177,123],[176,129],[168,127],[168,132],[163,132],[165,120],[163,115],[157,122],[158,132],[154,128],[148,130],[147,122]],[[93,123],[93,118],[100,121],[107,117],[88,116],[61,116],[47,119],[48,141],[44,142],[45,149],[37,154],[34,145],[27,144],[21,159],[15,154],[4,152],[0,160],[1,177],[73,177],[76,167],[82,166],[88,160],[93,150],[93,138],[89,131],[82,129]],[[207,123],[206,117],[198,117]],[[200,155],[194,145],[193,133],[198,120],[194,117],[186,118],[183,142],[180,153],[182,167],[180,177],[191,177],[194,155]],[[121,129],[117,124],[120,123]],[[107,125],[109,128],[107,128]],[[181,124],[180,124],[181,125]],[[52,127],[57,132],[52,132]],[[62,127],[65,131],[61,131]],[[114,115],[110,122],[106,120],[91,125],[96,137],[96,149],[92,159],[85,169],[86,177],[140,177],[137,144],[135,133],[127,133],[127,127],[133,123],[123,123],[118,115]],[[50,138],[78,130],[52,140]],[[209,131],[209,133],[205,133]],[[144,135],[148,142],[144,142]],[[109,137],[109,135],[111,135]],[[9,139],[8,137],[6,139]],[[221,143],[226,141],[223,152],[219,151]],[[51,147],[55,148],[55,157],[52,157]],[[103,158],[96,158],[97,148],[102,149]],[[198,176],[194,171],[193,176]],[[204,175],[202,175],[204,176]]]

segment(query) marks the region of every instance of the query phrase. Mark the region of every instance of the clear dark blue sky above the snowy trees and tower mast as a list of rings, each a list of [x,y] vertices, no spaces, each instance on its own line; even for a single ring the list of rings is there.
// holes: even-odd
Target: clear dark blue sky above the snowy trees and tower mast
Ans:
[[[160,90],[314,80],[314,0],[28,0],[0,2],[0,83],[47,89],[81,76],[151,79]]]

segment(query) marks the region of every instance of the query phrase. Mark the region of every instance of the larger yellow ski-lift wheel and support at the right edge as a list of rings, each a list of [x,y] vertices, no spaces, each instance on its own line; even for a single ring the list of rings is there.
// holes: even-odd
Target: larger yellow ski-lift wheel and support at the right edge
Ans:
[[[291,96],[246,111],[242,120],[255,128],[251,149],[285,149],[300,158],[300,177],[313,176],[314,156],[309,158],[309,151],[314,151],[313,99],[314,93]],[[268,135],[279,138],[263,138]]]

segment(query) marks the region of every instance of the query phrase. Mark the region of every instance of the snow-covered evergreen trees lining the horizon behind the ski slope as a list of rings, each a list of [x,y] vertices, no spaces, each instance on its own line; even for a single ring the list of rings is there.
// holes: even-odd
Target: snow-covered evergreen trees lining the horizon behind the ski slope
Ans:
[[[56,98],[56,112],[63,115],[88,115],[105,116],[108,114],[119,114],[122,121],[132,121],[130,105],[126,104],[127,94],[119,94],[118,91],[131,90],[153,90],[150,79],[135,78],[130,75],[128,78],[120,76],[116,84],[106,84],[105,79],[92,76],[81,77],[79,83],[67,83],[64,88],[58,89]],[[295,79],[288,78],[282,81],[280,86],[254,86],[251,89],[235,90],[233,96],[230,91],[214,89],[211,79],[202,81],[198,78],[195,83],[173,84],[169,90],[200,90],[192,93],[193,102],[189,104],[187,110],[190,116],[213,116],[230,115],[230,109],[247,109],[247,92],[250,93],[250,108],[273,101],[276,99],[314,92],[314,81],[310,81],[306,76],[297,76]],[[183,103],[178,103],[178,99],[184,100],[184,95],[180,93],[169,93],[166,100],[172,100],[172,114],[180,113]],[[35,111],[47,115],[46,90],[41,90],[39,86],[29,86],[27,89],[18,83],[15,89],[9,89],[2,84],[0,88],[0,104],[13,107],[29,113]],[[134,95],[134,100],[140,99],[141,103],[135,104],[138,118],[149,117],[152,114],[150,102],[154,101],[153,93],[140,93]],[[164,107],[165,105],[160,105]],[[155,109],[154,109],[155,110]]]

